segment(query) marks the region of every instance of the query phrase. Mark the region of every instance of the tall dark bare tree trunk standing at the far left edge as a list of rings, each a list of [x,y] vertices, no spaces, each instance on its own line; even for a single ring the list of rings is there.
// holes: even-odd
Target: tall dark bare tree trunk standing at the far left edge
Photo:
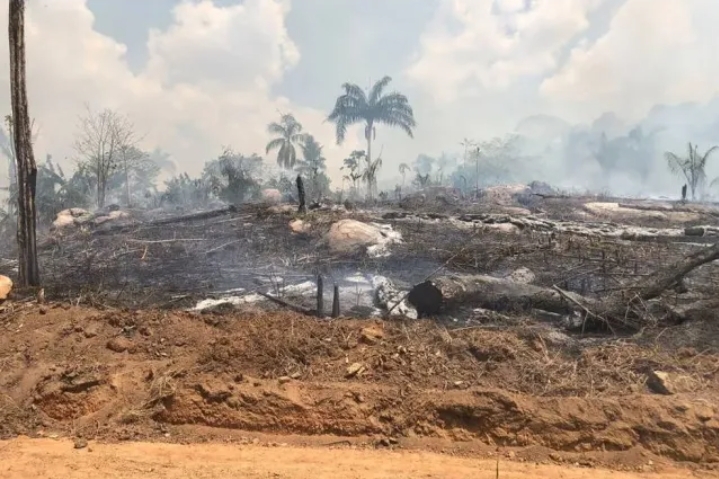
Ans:
[[[23,286],[39,286],[40,269],[37,262],[35,231],[37,165],[32,151],[32,132],[25,84],[25,0],[10,0],[8,39],[13,138],[18,175],[18,282]]]

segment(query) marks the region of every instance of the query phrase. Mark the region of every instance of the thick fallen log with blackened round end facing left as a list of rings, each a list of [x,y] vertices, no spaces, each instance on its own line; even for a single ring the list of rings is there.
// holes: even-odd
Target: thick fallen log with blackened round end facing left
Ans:
[[[577,299],[586,301],[578,295]],[[410,290],[407,301],[423,317],[462,305],[494,311],[536,308],[560,314],[576,309],[553,289],[484,275],[442,276],[425,281]]]

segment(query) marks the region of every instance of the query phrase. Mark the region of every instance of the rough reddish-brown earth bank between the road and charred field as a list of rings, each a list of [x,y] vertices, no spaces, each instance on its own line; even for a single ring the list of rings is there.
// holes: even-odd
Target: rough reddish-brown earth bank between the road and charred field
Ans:
[[[72,437],[80,445],[332,444],[347,449],[360,468],[374,456],[350,454],[350,448],[475,459],[501,454],[515,461],[630,471],[681,467],[683,474],[691,469],[702,475],[719,466],[719,354],[710,350],[677,349],[646,338],[644,346],[616,339],[569,347],[533,325],[448,330],[431,322],[317,321],[288,313],[129,312],[31,303],[2,308],[5,438]],[[651,370],[680,378],[677,393],[650,392],[645,383]],[[17,461],[27,462],[36,454],[33,448],[44,444],[11,441],[0,447],[2,454],[15,457],[8,451],[17,451]],[[67,446],[52,444],[53,460],[64,461],[67,453],[58,448]],[[139,444],[122,447],[118,451],[130,456],[142,450]],[[147,447],[162,457],[180,454]],[[226,454],[208,460],[222,468]],[[253,454],[247,461],[267,455],[259,449]],[[131,460],[118,458],[108,467]],[[101,459],[82,459],[78,467],[94,467],[93,461]],[[20,462],[19,468],[27,466]],[[198,464],[188,463],[187,470]],[[330,471],[337,462],[323,464]],[[536,477],[517,467],[515,476],[506,477]],[[457,468],[456,477],[464,477]],[[42,469],[25,470],[43,477]],[[275,477],[290,473],[305,477],[312,471],[286,469]],[[556,477],[585,477],[571,474]]]

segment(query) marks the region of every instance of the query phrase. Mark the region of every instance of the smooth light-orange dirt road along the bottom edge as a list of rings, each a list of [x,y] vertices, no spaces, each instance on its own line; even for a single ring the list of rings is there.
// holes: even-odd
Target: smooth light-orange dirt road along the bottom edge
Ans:
[[[0,477],[56,478],[472,478],[494,479],[496,462],[426,452],[158,443],[90,444],[15,439],[0,443]],[[685,479],[689,471],[628,473],[502,461],[502,479]],[[695,476],[699,477],[699,476]],[[706,476],[703,476],[706,477]]]

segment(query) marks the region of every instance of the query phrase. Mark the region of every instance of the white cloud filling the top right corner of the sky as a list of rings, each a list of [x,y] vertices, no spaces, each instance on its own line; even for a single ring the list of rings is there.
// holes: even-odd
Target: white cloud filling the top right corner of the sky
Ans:
[[[717,2],[627,0],[606,34],[576,47],[541,93],[580,120],[604,111],[638,120],[657,103],[707,101],[717,93],[717,20]]]

